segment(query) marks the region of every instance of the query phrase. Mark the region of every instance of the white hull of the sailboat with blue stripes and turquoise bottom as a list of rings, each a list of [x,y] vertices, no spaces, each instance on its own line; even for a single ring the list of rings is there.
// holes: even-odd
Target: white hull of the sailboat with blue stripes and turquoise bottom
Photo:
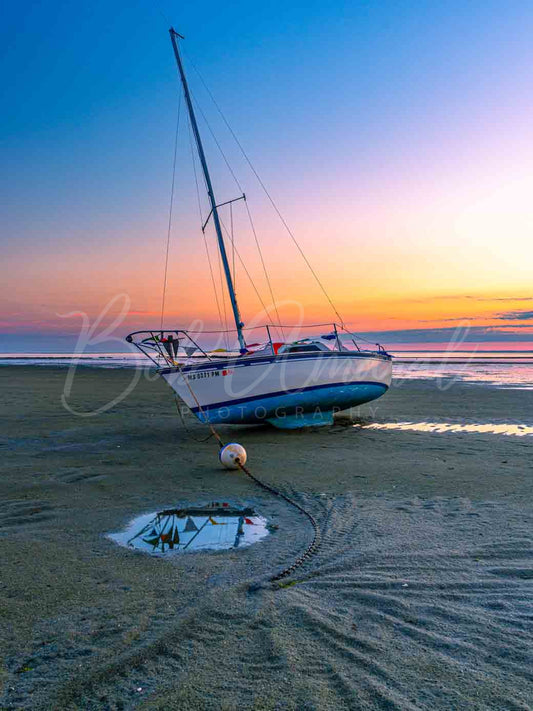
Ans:
[[[380,397],[392,364],[381,353],[330,352],[210,361],[161,375],[201,421],[294,429],[329,424],[335,412]]]

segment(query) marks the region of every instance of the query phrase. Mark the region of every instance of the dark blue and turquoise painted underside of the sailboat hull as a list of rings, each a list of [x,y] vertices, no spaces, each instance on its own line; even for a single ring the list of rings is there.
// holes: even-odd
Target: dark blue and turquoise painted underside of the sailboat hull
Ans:
[[[326,421],[331,421],[333,410],[345,410],[370,402],[383,395],[386,390],[387,386],[383,383],[320,385],[304,390],[273,393],[252,400],[249,398],[239,401],[230,400],[204,407],[203,410],[213,424],[264,424],[268,420],[276,426],[283,427],[283,420],[287,418],[292,424],[287,422],[286,426],[296,428],[309,424],[324,424]],[[193,408],[193,412],[200,420],[205,421],[198,408]],[[299,417],[301,417],[301,424],[298,424]]]

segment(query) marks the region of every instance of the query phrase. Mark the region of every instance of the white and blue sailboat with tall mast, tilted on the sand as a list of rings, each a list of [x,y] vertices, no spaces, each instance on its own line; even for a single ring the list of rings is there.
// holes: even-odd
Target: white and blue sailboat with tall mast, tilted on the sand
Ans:
[[[211,175],[180,54],[179,40],[169,30],[183,88],[190,127],[202,168],[210,214],[235,321],[233,348],[213,349],[206,334],[163,328],[130,333],[126,340],[156,365],[161,377],[202,422],[270,423],[283,429],[333,423],[336,412],[375,400],[390,386],[392,357],[380,345],[361,348],[344,324],[322,324],[322,331],[295,341],[273,339],[276,324],[265,324],[264,338],[247,338]],[[226,203],[222,203],[226,204]],[[313,329],[308,327],[308,332]]]

